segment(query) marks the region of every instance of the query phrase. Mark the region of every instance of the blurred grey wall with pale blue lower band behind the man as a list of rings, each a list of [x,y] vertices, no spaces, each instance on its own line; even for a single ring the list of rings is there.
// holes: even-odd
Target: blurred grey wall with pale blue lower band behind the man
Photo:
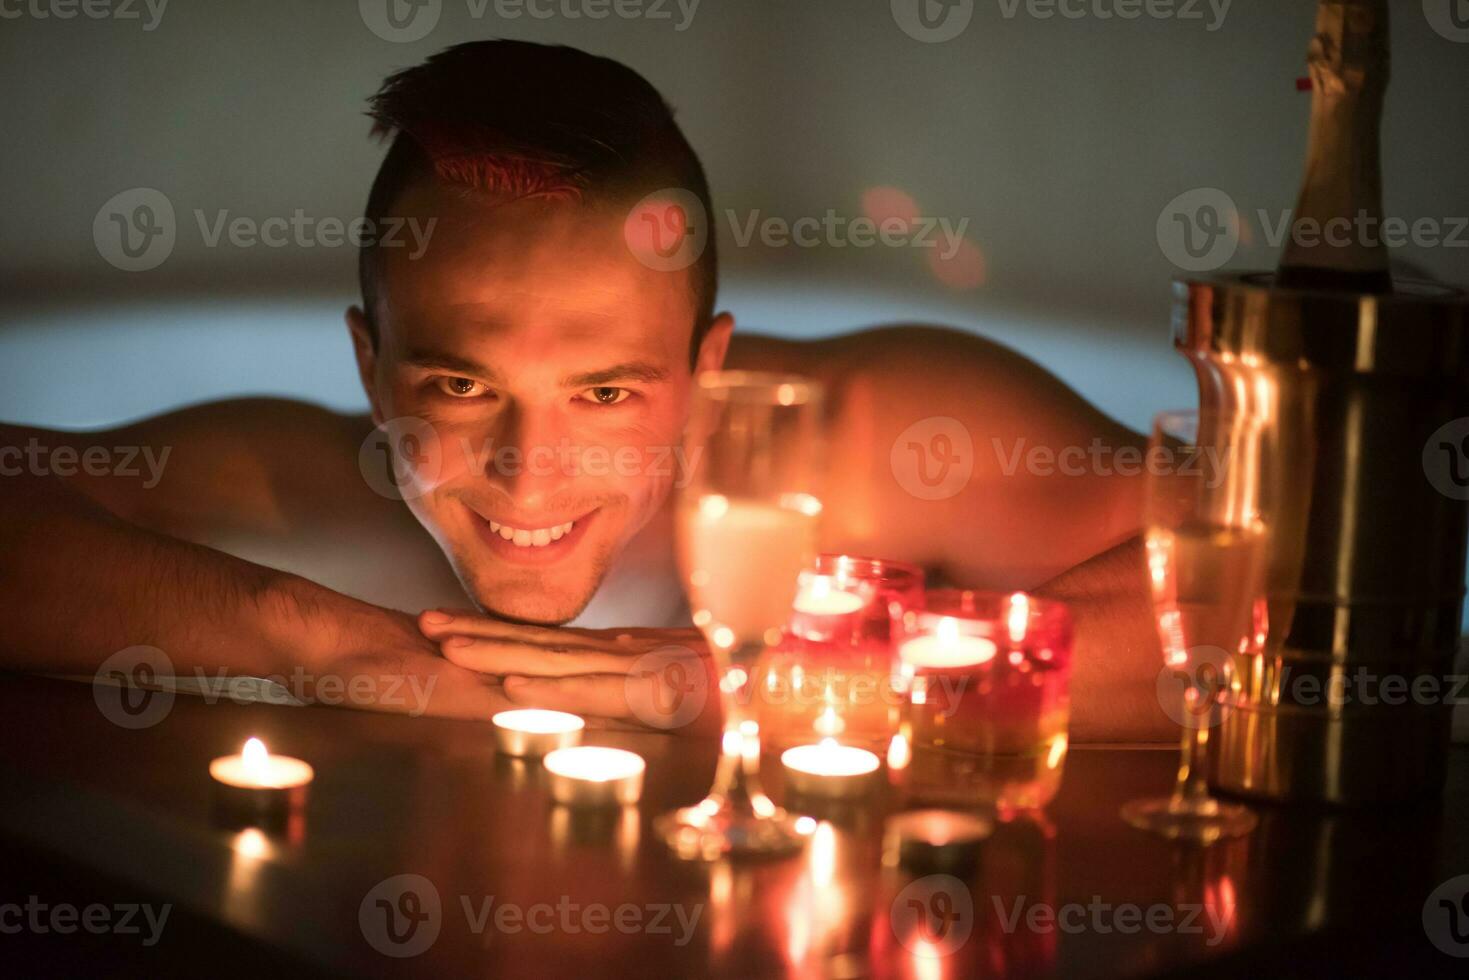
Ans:
[[[245,391],[360,404],[339,320],[354,251],[210,247],[195,212],[357,216],[382,153],[364,98],[389,71],[480,37],[608,54],[665,93],[708,166],[723,303],[748,326],[987,332],[1143,426],[1193,398],[1166,342],[1180,269],[1161,217],[1218,188],[1240,215],[1228,267],[1274,264],[1257,210],[1274,222],[1294,200],[1315,7],[1235,0],[1221,22],[1191,0],[1171,6],[1197,19],[1100,16],[1127,0],[1064,0],[1081,18],[967,0],[962,31],[949,21],[953,37],[925,43],[900,24],[915,24],[906,0],[701,0],[692,18],[687,0],[660,0],[664,16],[645,0],[623,7],[643,16],[608,3],[598,21],[566,13],[595,0],[538,0],[544,19],[430,0],[410,29],[426,34],[397,41],[369,26],[386,0],[172,0],[156,21],[141,0],[115,0],[134,19],[25,3],[0,0],[0,417],[72,426]],[[1469,215],[1469,38],[1435,29],[1435,0],[1394,7],[1387,210],[1448,222]],[[172,251],[145,272],[109,264],[94,237],[131,188],[176,216]],[[921,216],[967,219],[964,250],[945,263],[934,248],[742,247],[723,215],[852,217],[895,191]],[[1469,247],[1397,254],[1469,281]]]

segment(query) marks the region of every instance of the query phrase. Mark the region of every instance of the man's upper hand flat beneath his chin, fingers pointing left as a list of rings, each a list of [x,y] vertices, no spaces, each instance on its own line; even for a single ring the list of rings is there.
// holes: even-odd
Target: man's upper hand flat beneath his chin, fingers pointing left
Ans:
[[[695,629],[520,626],[461,610],[427,610],[419,629],[454,664],[501,677],[516,705],[664,732],[718,730],[715,670]]]

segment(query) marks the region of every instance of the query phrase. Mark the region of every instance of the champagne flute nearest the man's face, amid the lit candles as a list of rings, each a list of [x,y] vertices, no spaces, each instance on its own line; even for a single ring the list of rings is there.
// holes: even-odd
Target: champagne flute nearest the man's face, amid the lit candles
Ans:
[[[664,814],[657,830],[686,858],[780,854],[805,837],[759,788],[752,677],[815,557],[821,388],[796,375],[705,372],[689,436],[679,570],[718,667],[724,736],[708,796]]]

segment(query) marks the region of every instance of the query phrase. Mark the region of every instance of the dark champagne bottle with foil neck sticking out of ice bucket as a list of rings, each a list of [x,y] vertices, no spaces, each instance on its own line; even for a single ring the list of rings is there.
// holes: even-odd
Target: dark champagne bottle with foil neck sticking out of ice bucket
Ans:
[[[1391,292],[1382,244],[1388,0],[1321,0],[1310,41],[1310,137],[1277,284]]]

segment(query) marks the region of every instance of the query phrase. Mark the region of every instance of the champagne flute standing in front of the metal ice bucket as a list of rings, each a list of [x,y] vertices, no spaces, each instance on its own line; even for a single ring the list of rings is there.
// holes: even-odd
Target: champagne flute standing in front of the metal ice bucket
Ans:
[[[1209,730],[1235,655],[1263,644],[1271,464],[1249,411],[1165,411],[1149,441],[1144,525],[1149,586],[1166,680],[1183,689],[1183,760],[1171,796],[1136,799],[1122,818],[1175,840],[1210,843],[1249,833],[1255,814],[1209,795]]]

